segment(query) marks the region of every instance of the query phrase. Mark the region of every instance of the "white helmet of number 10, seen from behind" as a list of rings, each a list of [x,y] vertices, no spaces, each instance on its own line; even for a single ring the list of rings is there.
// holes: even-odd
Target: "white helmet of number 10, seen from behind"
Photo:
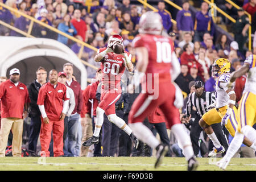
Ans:
[[[155,11],[147,11],[139,20],[139,33],[141,34],[161,34],[163,28],[163,20],[159,13]]]

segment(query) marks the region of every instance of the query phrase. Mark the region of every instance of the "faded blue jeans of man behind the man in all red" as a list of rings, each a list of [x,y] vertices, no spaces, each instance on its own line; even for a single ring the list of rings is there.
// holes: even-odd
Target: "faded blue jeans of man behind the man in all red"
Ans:
[[[68,117],[68,136],[64,141],[64,150],[65,156],[76,156],[76,140],[77,140],[77,133],[79,130],[79,119],[80,114],[76,113]]]

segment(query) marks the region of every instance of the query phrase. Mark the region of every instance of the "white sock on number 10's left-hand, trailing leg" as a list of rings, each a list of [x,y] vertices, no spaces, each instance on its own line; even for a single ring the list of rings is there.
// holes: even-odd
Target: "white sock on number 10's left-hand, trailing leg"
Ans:
[[[159,140],[155,138],[152,131],[143,123],[130,123],[129,126],[134,131],[134,134],[151,148],[156,148],[160,144]]]

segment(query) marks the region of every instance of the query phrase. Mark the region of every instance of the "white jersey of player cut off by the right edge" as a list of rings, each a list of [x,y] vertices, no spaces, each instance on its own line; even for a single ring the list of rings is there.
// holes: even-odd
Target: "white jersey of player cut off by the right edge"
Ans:
[[[250,69],[245,82],[245,92],[256,94],[256,55],[250,55],[246,58],[245,63],[250,64]]]

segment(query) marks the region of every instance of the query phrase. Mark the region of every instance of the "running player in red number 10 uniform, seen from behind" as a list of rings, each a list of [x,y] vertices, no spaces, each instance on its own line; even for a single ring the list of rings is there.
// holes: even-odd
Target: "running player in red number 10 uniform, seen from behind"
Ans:
[[[129,126],[139,139],[156,149],[155,168],[159,167],[168,151],[168,146],[160,144],[159,140],[142,123],[144,118],[159,106],[175,137],[182,145],[185,158],[188,160],[188,170],[194,170],[198,163],[193,153],[191,139],[180,122],[177,109],[183,106],[183,96],[179,88],[175,88],[172,84],[180,73],[180,64],[174,52],[174,42],[170,38],[161,36],[161,31],[162,18],[158,13],[148,11],[141,16],[139,35],[133,40],[133,47],[137,53],[137,70],[134,73],[135,82],[129,85],[129,88],[133,86],[136,88],[139,85],[137,80],[141,80],[146,73],[146,87],[142,84],[142,88],[147,89],[146,92],[139,94],[131,107]],[[149,81],[148,76],[153,82]],[[150,92],[148,86],[152,86],[154,93]]]

